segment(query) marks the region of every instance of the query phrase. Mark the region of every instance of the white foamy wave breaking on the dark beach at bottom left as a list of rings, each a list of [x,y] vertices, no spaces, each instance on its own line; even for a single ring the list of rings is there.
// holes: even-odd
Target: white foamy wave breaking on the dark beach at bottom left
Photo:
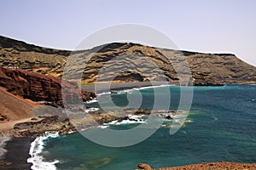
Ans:
[[[27,159],[28,163],[32,163],[32,170],[43,170],[43,169],[50,169],[50,170],[55,170],[57,169],[55,167],[56,163],[59,163],[60,161],[55,160],[55,161],[44,161],[44,157],[41,156],[40,154],[42,153],[44,149],[44,141],[49,138],[56,138],[59,137],[59,134],[57,132],[47,132],[44,134],[44,136],[40,136],[37,139],[35,139],[32,144],[31,148],[29,150],[29,157]]]

